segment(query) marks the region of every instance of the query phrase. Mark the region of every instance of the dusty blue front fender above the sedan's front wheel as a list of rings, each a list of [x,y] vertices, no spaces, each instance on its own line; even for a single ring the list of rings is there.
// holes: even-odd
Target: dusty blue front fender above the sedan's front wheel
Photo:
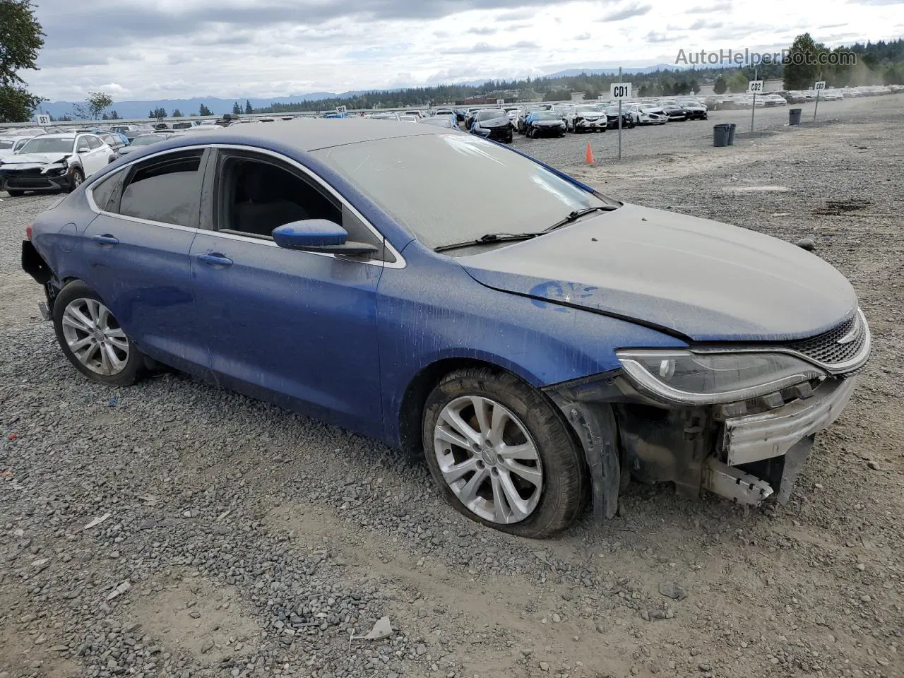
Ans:
[[[618,348],[686,346],[625,320],[485,287],[455,259],[419,246],[403,254],[408,265],[383,271],[377,301],[384,431],[392,444],[400,443],[411,382],[440,361],[491,363],[540,389],[617,368]]]

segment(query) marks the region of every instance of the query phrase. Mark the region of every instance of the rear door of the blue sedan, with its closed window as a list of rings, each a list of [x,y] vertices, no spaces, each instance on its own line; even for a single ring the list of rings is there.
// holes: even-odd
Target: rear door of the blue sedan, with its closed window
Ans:
[[[207,155],[203,148],[177,149],[92,184],[99,216],[81,248],[82,278],[139,348],[189,372],[204,372],[207,363],[189,265]]]

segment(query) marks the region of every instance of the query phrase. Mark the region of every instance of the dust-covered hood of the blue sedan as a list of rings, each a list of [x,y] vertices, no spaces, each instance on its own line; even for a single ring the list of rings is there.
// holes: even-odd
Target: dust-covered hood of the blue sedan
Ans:
[[[488,287],[699,342],[800,339],[857,305],[841,273],[784,240],[631,204],[458,261]]]

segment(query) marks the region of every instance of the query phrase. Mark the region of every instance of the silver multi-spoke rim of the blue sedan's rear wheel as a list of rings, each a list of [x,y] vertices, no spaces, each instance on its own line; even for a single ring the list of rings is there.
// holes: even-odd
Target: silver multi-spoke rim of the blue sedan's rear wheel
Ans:
[[[97,299],[73,299],[62,314],[62,334],[72,354],[91,372],[111,377],[126,368],[126,333]]]

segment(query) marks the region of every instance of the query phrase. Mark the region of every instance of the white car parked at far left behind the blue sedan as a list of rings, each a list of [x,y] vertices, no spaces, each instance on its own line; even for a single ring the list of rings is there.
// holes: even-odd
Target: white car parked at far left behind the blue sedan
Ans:
[[[93,134],[44,134],[0,165],[0,186],[12,197],[25,191],[71,191],[115,159],[116,152]]]

